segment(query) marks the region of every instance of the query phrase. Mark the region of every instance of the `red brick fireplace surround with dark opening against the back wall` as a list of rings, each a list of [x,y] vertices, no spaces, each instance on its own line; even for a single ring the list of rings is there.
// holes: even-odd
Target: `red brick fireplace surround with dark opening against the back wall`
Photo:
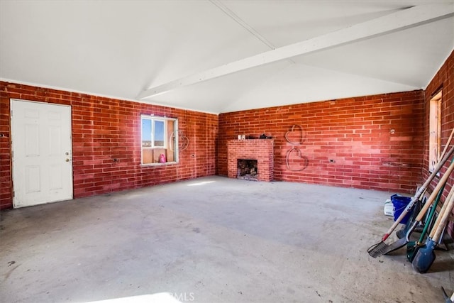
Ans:
[[[228,177],[238,176],[238,159],[257,160],[258,181],[273,180],[273,141],[272,139],[231,140],[227,142]]]

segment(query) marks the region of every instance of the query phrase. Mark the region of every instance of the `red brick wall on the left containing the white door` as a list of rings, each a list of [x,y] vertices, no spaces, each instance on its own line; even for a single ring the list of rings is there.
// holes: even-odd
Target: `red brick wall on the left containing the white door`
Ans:
[[[217,115],[0,82],[0,209],[12,206],[10,98],[72,106],[75,198],[216,174]],[[178,164],[140,165],[140,114],[179,119]]]

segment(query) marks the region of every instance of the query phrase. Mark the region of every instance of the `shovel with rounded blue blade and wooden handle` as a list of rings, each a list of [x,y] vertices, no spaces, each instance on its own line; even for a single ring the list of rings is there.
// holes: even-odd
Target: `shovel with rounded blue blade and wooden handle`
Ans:
[[[433,261],[436,258],[435,250],[438,240],[441,236],[441,232],[445,225],[448,224],[448,218],[453,211],[454,208],[454,187],[451,188],[448,197],[441,208],[440,214],[438,214],[438,218],[433,225],[431,230],[431,234],[429,235],[426,244],[419,248],[416,248],[416,253],[411,263],[413,265],[413,269],[417,272],[424,273],[427,272]]]

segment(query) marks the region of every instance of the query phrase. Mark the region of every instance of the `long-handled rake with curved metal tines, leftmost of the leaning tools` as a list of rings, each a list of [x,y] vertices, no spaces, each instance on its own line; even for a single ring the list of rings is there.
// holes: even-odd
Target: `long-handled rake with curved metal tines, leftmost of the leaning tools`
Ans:
[[[423,192],[426,191],[429,184],[431,184],[433,178],[438,174],[438,172],[441,170],[441,167],[443,167],[445,162],[448,160],[448,158],[450,158],[450,156],[453,153],[454,153],[454,146],[452,148],[450,148],[448,153],[446,153],[444,155],[444,157],[440,160],[440,162],[438,162],[436,167],[433,169],[433,172],[431,173],[431,175],[428,176],[426,182],[424,182],[424,184],[421,187],[419,187],[419,189],[416,191],[416,194],[414,194],[414,197],[411,198],[411,201],[409,202],[409,204],[406,206],[404,211],[402,211],[402,214],[400,214],[399,218],[397,218],[397,220],[394,222],[394,224],[392,224],[392,226],[384,234],[384,236],[382,237],[382,241],[370,246],[370,248],[367,249],[367,253],[369,253],[369,255],[371,257],[377,258],[379,255],[382,255],[384,253],[384,251],[387,250],[387,248],[389,246],[387,245],[387,243],[384,243],[384,241],[386,241],[387,238],[389,238],[389,236],[394,231],[394,229],[397,227],[397,225],[402,221],[402,219],[404,219],[406,214],[409,213],[409,211],[414,206],[414,204],[416,204],[416,202],[419,200],[419,197],[421,197],[421,194],[423,194]]]

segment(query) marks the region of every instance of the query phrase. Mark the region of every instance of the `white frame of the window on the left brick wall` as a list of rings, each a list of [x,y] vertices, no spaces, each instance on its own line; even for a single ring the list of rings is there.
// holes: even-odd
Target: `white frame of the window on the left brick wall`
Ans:
[[[143,121],[148,120],[151,123],[150,126],[150,146],[143,145],[143,137],[144,137],[144,129],[143,129]],[[155,122],[160,121],[163,123],[163,143],[162,145],[155,145],[156,144],[156,128]],[[173,131],[170,132],[168,123],[173,124]],[[166,116],[155,116],[154,114],[140,114],[140,165],[149,166],[149,165],[169,165],[175,164],[179,162],[178,158],[178,138],[172,136],[173,133],[177,132],[178,130],[178,119],[177,118],[170,118]],[[175,143],[171,143],[170,140],[175,140]],[[170,148],[172,146],[172,148]],[[155,150],[165,150],[167,153],[172,153],[172,160],[166,162],[144,162],[144,150],[151,150],[151,153],[154,153]],[[152,158],[154,158],[152,156]],[[167,157],[166,157],[167,158]],[[153,159],[152,159],[153,160]]]

